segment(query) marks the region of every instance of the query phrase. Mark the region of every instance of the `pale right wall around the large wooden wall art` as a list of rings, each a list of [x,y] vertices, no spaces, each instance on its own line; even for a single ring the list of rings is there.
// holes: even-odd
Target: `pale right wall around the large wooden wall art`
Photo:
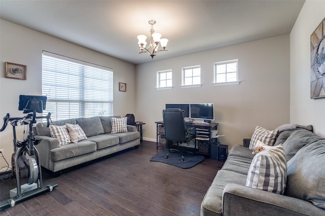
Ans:
[[[310,99],[310,35],[325,17],[325,1],[307,0],[290,33],[290,122],[312,124],[325,137],[325,98]]]

